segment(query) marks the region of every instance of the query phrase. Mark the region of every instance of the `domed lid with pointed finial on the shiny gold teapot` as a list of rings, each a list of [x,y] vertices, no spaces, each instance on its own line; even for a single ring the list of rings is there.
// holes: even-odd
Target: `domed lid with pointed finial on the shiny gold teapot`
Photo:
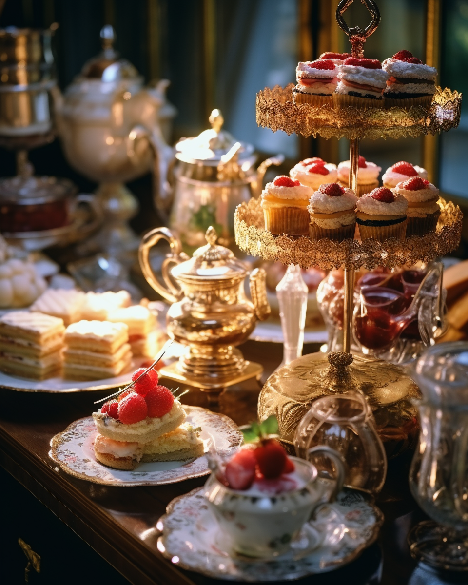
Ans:
[[[215,228],[209,226],[205,233],[207,245],[195,250],[190,260],[175,266],[171,273],[176,278],[190,280],[226,280],[243,278],[247,274],[245,264],[238,260],[233,252],[216,244],[218,235]]]

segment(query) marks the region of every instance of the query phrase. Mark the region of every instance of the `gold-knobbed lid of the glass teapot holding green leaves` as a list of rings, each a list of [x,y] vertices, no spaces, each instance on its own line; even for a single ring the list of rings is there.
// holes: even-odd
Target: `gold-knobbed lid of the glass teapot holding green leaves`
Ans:
[[[184,163],[218,166],[222,157],[226,156],[236,145],[236,139],[227,130],[222,130],[224,118],[219,109],[214,109],[209,116],[211,128],[203,130],[198,136],[183,138],[176,144],[176,157]],[[254,147],[252,144],[240,142],[236,149],[239,161],[248,160]]]

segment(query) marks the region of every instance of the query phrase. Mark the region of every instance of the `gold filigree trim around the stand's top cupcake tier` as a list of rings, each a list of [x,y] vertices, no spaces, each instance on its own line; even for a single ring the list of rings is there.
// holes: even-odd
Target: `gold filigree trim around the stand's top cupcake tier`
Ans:
[[[306,137],[376,139],[437,134],[456,128],[460,123],[462,94],[448,87],[445,90],[436,87],[429,109],[411,106],[407,110],[393,106],[364,111],[352,107],[335,110],[328,104],[320,108],[310,104],[295,105],[293,87],[291,83],[285,88],[275,85],[273,89],[266,87],[259,91],[256,99],[259,126]]]

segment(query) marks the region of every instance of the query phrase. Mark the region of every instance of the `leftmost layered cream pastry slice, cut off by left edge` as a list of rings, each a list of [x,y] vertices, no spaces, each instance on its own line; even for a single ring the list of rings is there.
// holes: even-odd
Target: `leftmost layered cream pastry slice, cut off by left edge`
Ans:
[[[0,370],[45,380],[61,370],[63,321],[43,313],[15,311],[0,318]]]

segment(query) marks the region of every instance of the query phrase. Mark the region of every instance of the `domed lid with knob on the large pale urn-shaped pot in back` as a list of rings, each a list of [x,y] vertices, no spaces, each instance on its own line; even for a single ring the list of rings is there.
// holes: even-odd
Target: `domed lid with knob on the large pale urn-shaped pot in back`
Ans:
[[[115,30],[111,25],[102,27],[102,52],[87,61],[82,70],[81,78],[100,79],[104,82],[121,80],[139,80],[136,68],[127,59],[119,59],[119,53],[113,48],[116,40]]]

